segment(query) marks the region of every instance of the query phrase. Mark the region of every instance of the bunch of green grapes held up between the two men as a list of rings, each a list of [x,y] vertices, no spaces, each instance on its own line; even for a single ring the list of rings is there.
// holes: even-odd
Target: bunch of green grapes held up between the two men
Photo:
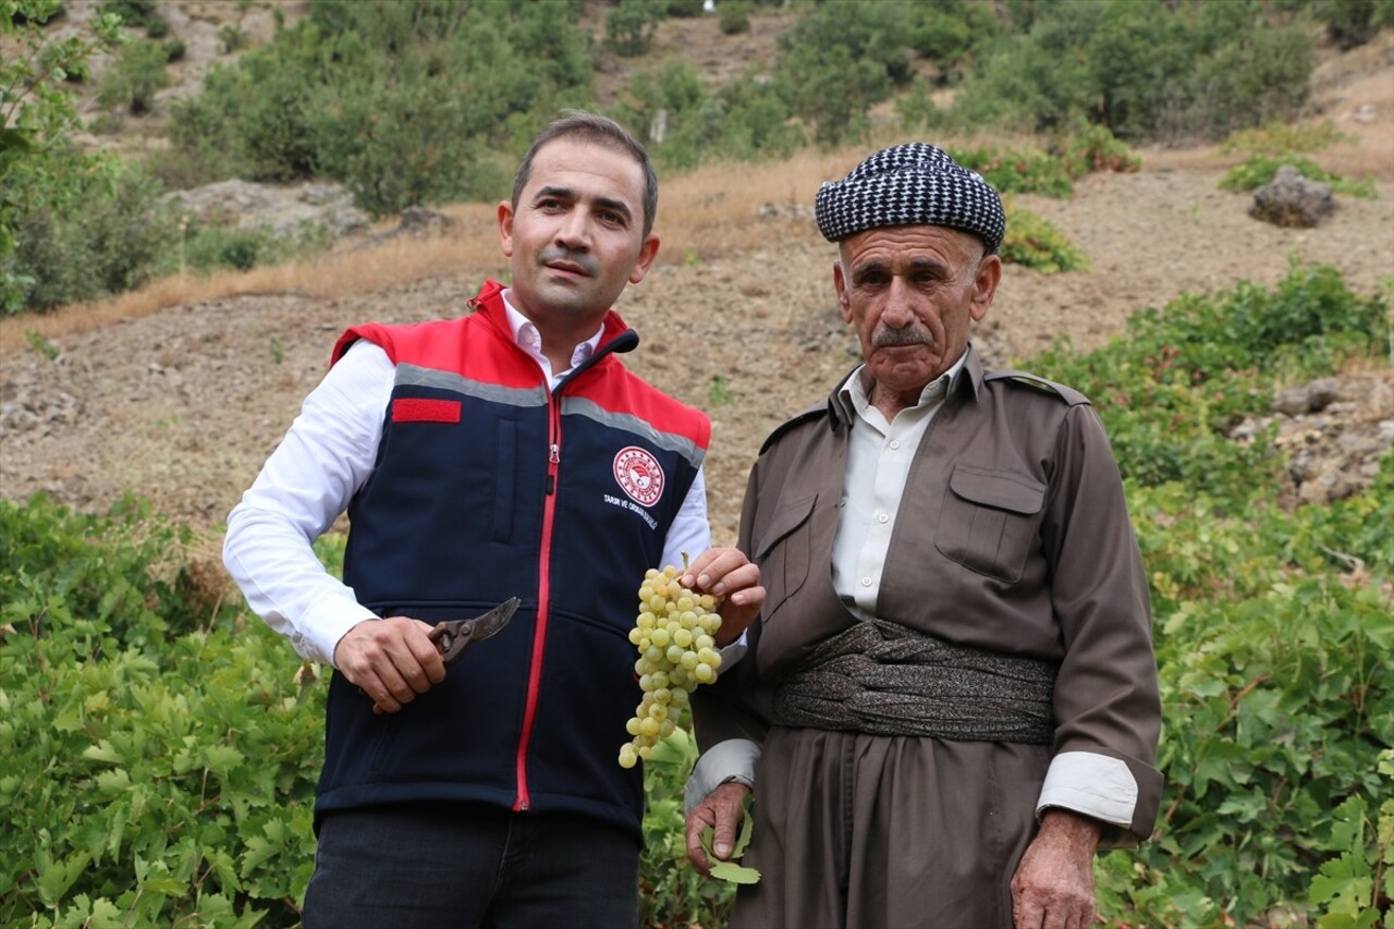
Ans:
[[[625,725],[633,738],[619,749],[620,767],[634,767],[658,739],[672,735],[687,695],[715,681],[721,667],[717,598],[683,587],[680,576],[672,565],[650,568],[638,589],[638,617],[629,640],[638,650],[634,674],[644,699]]]

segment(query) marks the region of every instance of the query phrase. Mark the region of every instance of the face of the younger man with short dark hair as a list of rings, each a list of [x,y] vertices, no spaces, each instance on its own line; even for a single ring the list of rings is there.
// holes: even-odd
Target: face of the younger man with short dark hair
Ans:
[[[638,162],[569,138],[544,145],[517,211],[499,204],[513,305],[539,328],[598,322],[658,255],[658,237],[644,237],[643,212]]]

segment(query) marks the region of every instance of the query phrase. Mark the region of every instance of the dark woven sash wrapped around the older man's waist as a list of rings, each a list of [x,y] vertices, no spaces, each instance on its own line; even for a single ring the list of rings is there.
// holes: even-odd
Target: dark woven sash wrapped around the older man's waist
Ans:
[[[1052,661],[949,644],[867,619],[813,650],[778,686],[772,721],[870,735],[1050,745]]]

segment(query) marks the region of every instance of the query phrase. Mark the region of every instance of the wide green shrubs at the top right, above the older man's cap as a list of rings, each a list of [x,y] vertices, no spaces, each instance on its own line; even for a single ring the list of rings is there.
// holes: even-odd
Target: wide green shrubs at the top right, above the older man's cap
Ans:
[[[1009,4],[1009,15],[1019,28],[979,56],[956,126],[1087,119],[1126,139],[1220,138],[1299,112],[1315,66],[1302,22],[1270,20],[1256,0]]]

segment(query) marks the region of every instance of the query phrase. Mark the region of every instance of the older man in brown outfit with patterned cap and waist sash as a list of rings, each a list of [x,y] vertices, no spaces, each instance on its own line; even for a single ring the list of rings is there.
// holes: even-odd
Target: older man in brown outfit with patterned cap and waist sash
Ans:
[[[779,427],[739,545],[765,603],[698,692],[687,847],[730,854],[732,926],[1083,926],[1093,855],[1161,792],[1147,583],[1089,400],[983,368],[1005,215],[941,149],[817,195],[863,364]]]

